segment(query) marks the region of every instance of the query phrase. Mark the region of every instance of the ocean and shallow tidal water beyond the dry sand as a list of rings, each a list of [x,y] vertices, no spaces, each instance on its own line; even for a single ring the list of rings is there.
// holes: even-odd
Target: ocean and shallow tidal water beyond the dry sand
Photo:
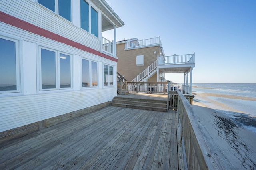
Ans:
[[[194,87],[204,88],[192,88],[195,95],[195,101],[203,102],[204,105],[221,111],[228,115],[236,123],[256,132],[256,84],[246,83],[193,83]],[[252,100],[233,99],[225,97],[207,96],[202,99],[196,94],[198,93],[214,93],[233,95],[240,97],[250,97]],[[222,103],[222,105],[216,105],[211,101]],[[223,105],[226,106],[223,108]]]

